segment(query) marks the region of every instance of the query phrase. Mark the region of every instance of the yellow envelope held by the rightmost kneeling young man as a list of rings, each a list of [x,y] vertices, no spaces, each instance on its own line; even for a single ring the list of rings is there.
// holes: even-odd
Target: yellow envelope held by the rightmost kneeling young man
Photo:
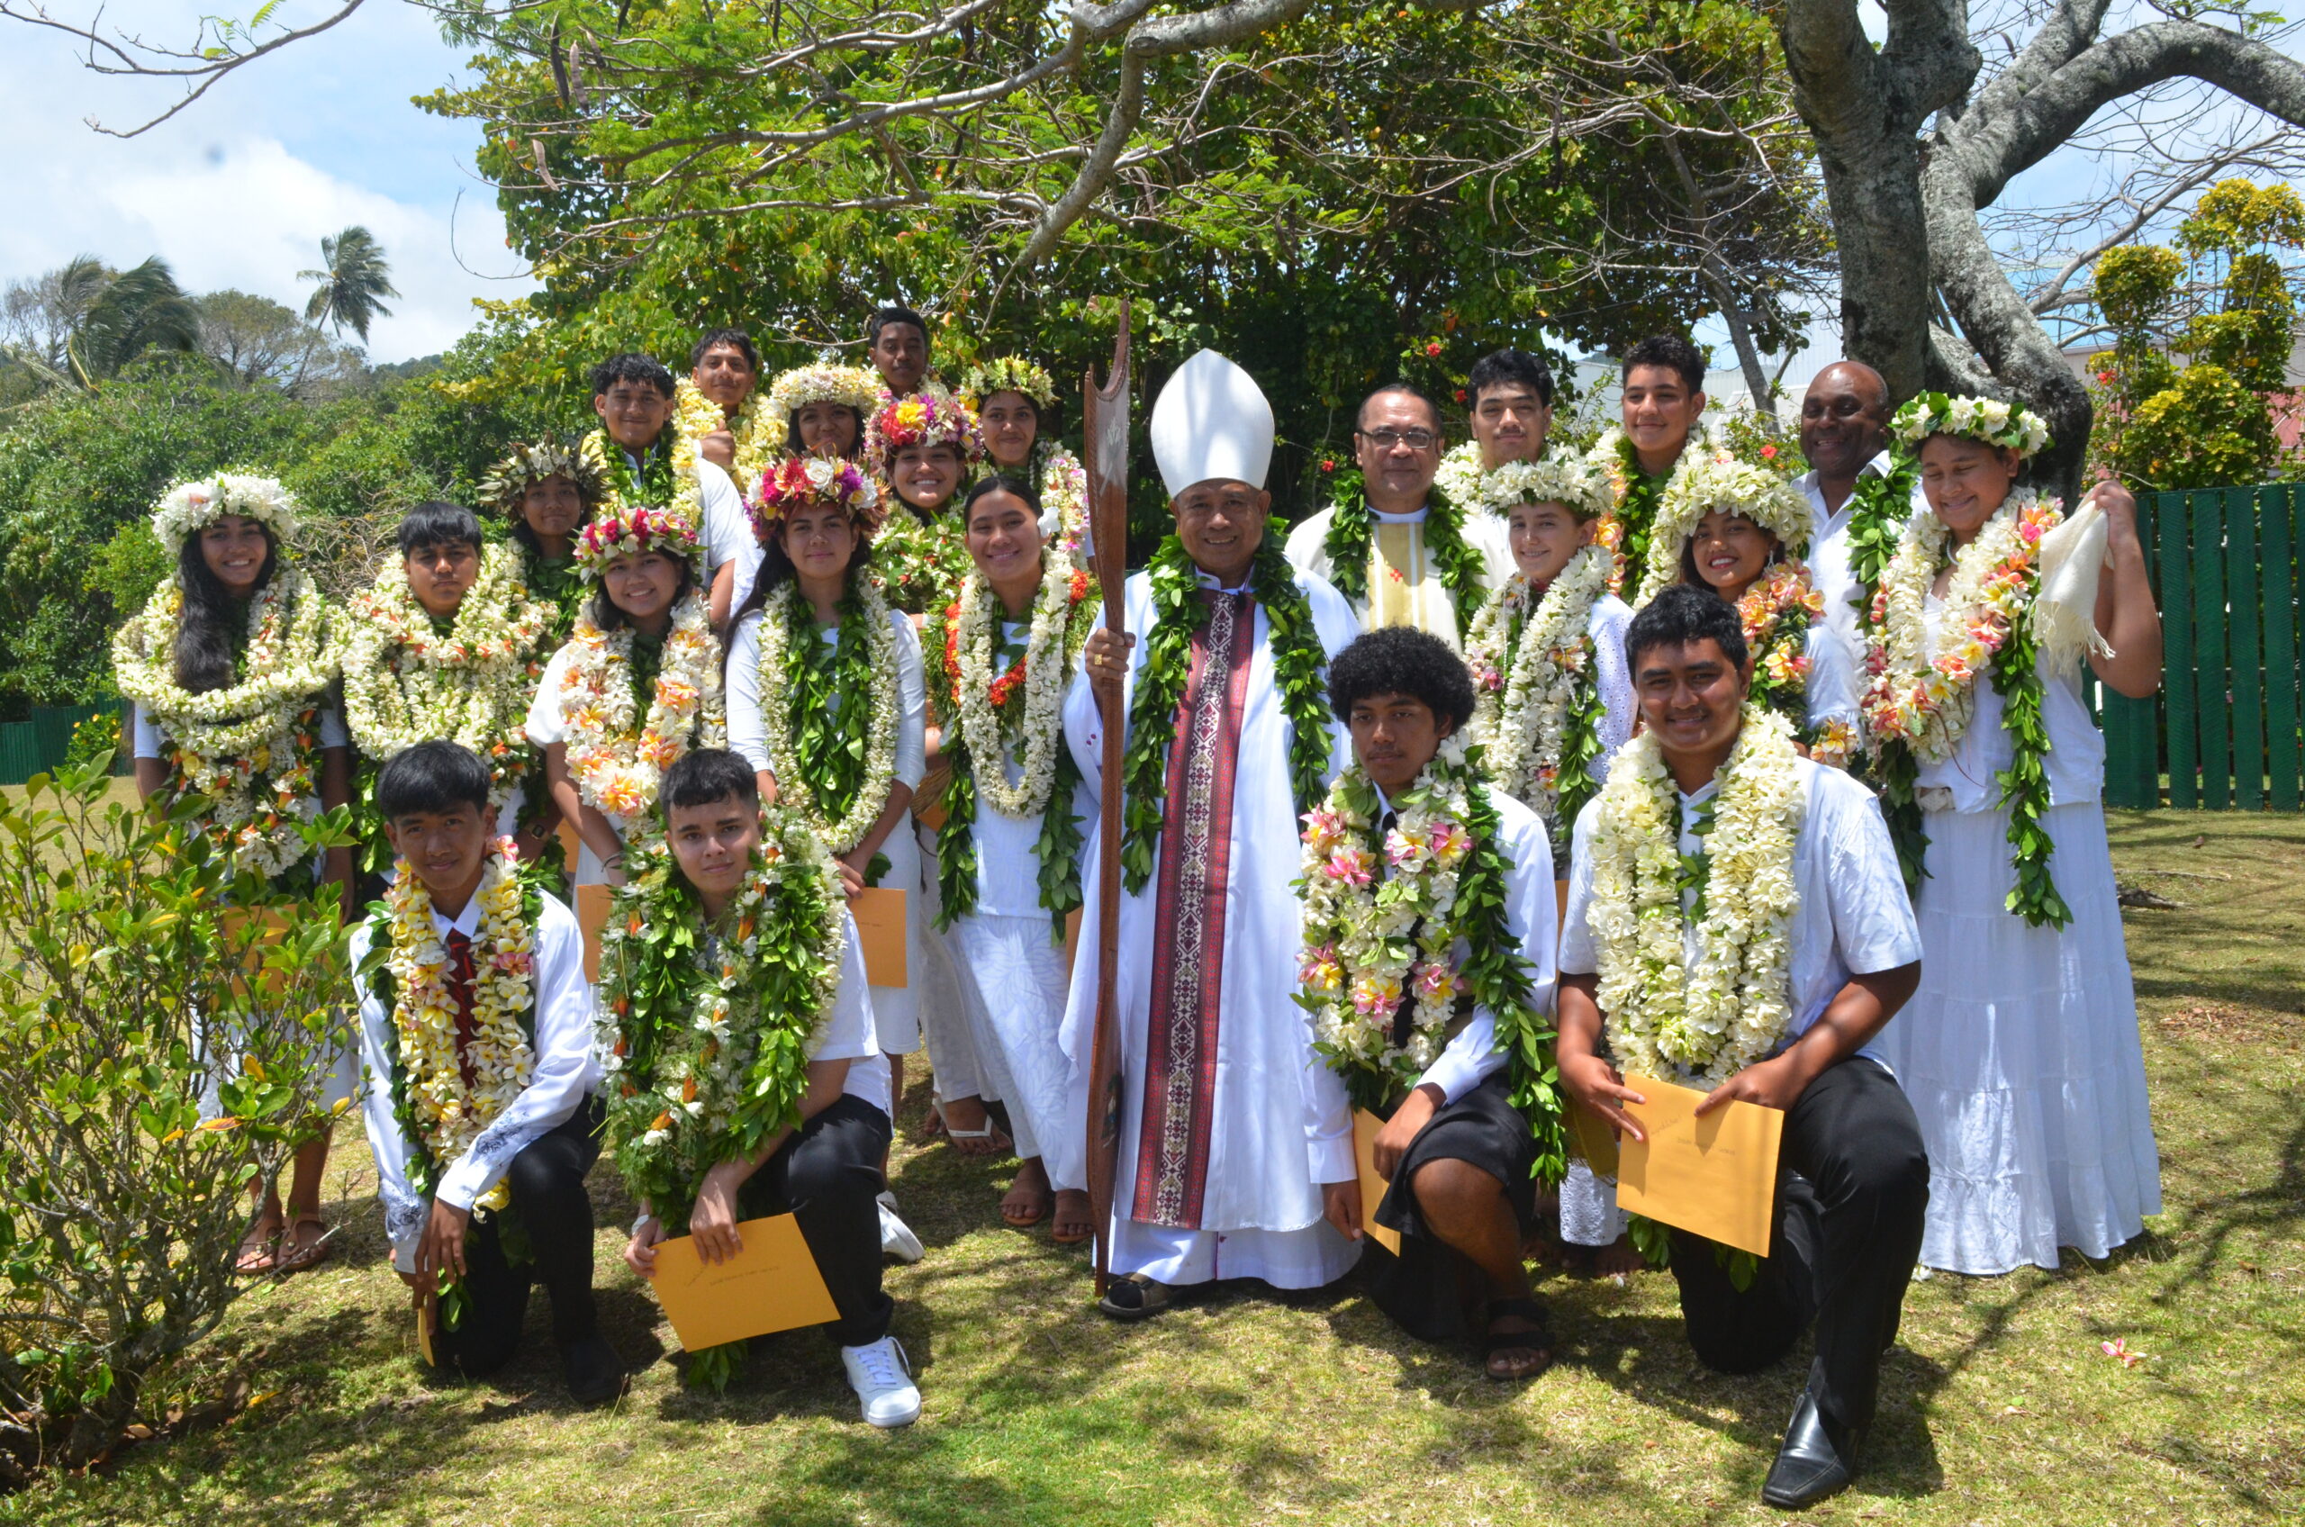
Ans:
[[[1648,1139],[1618,1142],[1618,1206],[1766,1257],[1784,1114],[1731,1103],[1699,1119],[1701,1091],[1655,1077],[1625,1077],[1625,1086],[1648,1098],[1623,1105]]]

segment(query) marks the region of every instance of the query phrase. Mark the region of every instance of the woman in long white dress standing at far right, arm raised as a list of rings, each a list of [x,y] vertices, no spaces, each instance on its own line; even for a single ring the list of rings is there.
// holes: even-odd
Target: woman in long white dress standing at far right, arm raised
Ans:
[[[1865,722],[1892,826],[1927,835],[1920,994],[1881,1038],[1929,1146],[1920,1257],[2054,1269],[2061,1246],[2104,1257],[2160,1213],[2104,740],[2079,674],[2086,653],[2111,690],[2153,694],[2160,614],[2128,491],[2100,484],[2065,519],[2017,487],[2049,443],[2038,418],[1922,394],[1897,434],[1932,512],[1865,625]]]

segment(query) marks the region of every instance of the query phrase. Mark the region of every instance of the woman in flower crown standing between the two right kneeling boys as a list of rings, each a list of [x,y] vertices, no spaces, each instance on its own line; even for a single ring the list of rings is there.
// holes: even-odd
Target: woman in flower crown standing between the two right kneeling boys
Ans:
[[[1480,498],[1505,521],[1517,572],[1473,616],[1466,639],[1473,740],[1489,780],[1544,823],[1565,904],[1570,828],[1609,777],[1637,715],[1625,674],[1632,609],[1609,593],[1616,554],[1604,531],[1616,498],[1609,477],[1570,452],[1482,473]],[[1616,1188],[1584,1158],[1560,1181],[1560,1239],[1579,1271],[1641,1266]]]

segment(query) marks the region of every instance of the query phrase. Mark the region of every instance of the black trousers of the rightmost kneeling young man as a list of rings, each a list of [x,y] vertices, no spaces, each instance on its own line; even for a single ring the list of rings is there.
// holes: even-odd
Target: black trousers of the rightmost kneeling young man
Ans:
[[[1768,1368],[1814,1322],[1809,1393],[1842,1444],[1872,1426],[1920,1257],[1929,1156],[1904,1089],[1856,1056],[1786,1112],[1777,1165],[1777,1229],[1743,1294],[1713,1241],[1673,1232],[1680,1312],[1696,1356],[1722,1372]]]

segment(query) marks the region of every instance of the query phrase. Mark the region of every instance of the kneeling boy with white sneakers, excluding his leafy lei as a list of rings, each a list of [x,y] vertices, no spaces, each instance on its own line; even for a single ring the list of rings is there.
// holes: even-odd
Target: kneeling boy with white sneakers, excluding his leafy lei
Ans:
[[[687,752],[664,773],[657,810],[664,812],[673,863],[696,890],[703,948],[726,932],[721,918],[751,877],[751,856],[761,847],[761,791],[751,764],[719,747]],[[920,1389],[904,1347],[887,1333],[897,1306],[881,1287],[876,1195],[890,1144],[887,1059],[874,1036],[864,955],[846,911],[841,930],[839,994],[809,1040],[800,1123],[710,1167],[696,1183],[689,1234],[696,1255],[712,1266],[745,1248],[738,1223],[791,1213],[832,1294],[837,1319],[825,1331],[841,1349],[864,1421],[910,1426],[920,1419]],[[781,976],[770,978],[784,990]],[[625,1262],[652,1278],[659,1241],[664,1225],[643,1204]]]

